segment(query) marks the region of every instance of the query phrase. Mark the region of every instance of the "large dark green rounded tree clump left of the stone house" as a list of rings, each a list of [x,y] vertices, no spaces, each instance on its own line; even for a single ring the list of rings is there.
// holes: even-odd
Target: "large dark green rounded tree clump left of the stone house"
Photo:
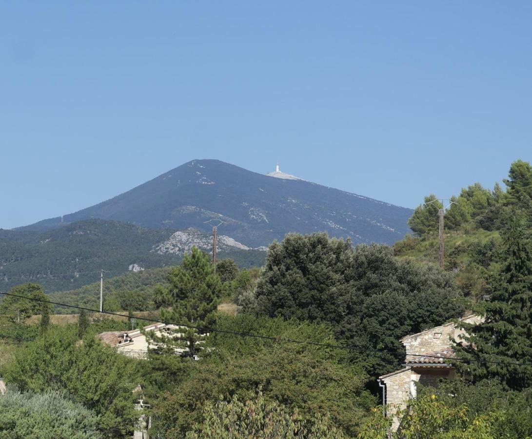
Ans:
[[[255,296],[259,314],[331,325],[377,374],[400,365],[401,337],[464,310],[452,276],[442,270],[401,262],[384,245],[353,250],[349,241],[323,233],[272,244]]]

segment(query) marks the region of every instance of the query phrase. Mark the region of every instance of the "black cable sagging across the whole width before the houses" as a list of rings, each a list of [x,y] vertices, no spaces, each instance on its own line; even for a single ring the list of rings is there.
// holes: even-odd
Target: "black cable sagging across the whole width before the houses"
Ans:
[[[67,308],[74,308],[79,310],[85,310],[90,311],[94,313],[100,313],[98,310],[92,309],[92,308],[85,308],[85,307],[78,307],[77,305],[67,305],[65,303],[59,303],[59,302],[52,302],[49,300],[43,300],[43,299],[37,299],[37,297],[26,297],[21,296],[19,294],[12,294],[12,293],[3,293],[0,291],[0,294],[4,294],[6,296],[12,296],[12,297],[19,297],[20,299],[26,299],[29,301],[35,301],[35,302],[43,302],[43,303],[49,303],[52,305],[59,305],[61,307],[67,307]],[[129,318],[126,314],[119,314],[118,312],[110,312],[110,311],[102,311],[101,314],[109,314],[110,316],[117,316],[117,317],[124,317],[126,319]],[[137,320],[144,320],[152,323],[161,323],[160,320],[154,320],[149,319],[146,317],[135,317]],[[259,339],[265,339],[270,340],[272,342],[283,342],[283,343],[295,343],[295,344],[306,344],[311,346],[320,346],[320,347],[330,347],[334,349],[347,349],[351,351],[357,351],[357,352],[375,352],[375,353],[385,353],[385,354],[392,354],[392,355],[404,355],[402,352],[399,351],[381,351],[378,349],[362,349],[361,347],[352,346],[352,345],[336,345],[336,344],[330,344],[330,343],[318,343],[318,342],[311,342],[307,340],[295,340],[292,338],[284,338],[284,337],[271,337],[268,335],[260,335],[260,334],[252,334],[252,333],[241,333],[236,331],[231,331],[228,329],[218,329],[218,328],[210,328],[210,327],[200,327],[200,326],[192,326],[192,325],[186,325],[182,323],[176,323],[176,322],[162,322],[165,325],[174,325],[174,326],[180,326],[188,329],[196,329],[201,332],[218,332],[222,334],[230,334],[230,335],[237,335],[240,337],[251,337],[251,338],[259,338]],[[532,363],[518,363],[518,362],[506,362],[506,361],[490,361],[490,360],[480,360],[480,359],[461,359],[461,358],[442,358],[438,355],[427,355],[427,354],[406,354],[408,357],[415,357],[415,358],[436,358],[438,360],[452,360],[452,361],[460,361],[460,362],[479,362],[479,363],[489,363],[494,365],[510,365],[510,366],[532,366]]]

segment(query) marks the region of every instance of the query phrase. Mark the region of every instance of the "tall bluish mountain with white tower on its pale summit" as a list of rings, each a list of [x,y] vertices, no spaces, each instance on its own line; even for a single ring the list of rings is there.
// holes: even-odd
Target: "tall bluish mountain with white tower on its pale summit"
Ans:
[[[111,200],[23,227],[46,231],[98,218],[150,229],[219,233],[247,247],[269,245],[289,232],[327,231],[354,243],[393,244],[409,229],[411,209],[284,174],[261,175],[218,160],[193,160]],[[215,225],[215,222],[212,221]]]

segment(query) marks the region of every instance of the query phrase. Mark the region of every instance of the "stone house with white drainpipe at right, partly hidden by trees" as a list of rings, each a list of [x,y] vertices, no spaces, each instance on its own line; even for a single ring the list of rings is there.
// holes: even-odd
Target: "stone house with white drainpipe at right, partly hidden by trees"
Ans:
[[[460,321],[479,324],[482,318],[470,315]],[[406,401],[415,397],[417,383],[437,386],[440,378],[454,378],[454,367],[446,360],[454,358],[452,341],[460,341],[463,334],[464,331],[455,322],[450,322],[401,338],[406,349],[403,368],[378,379],[379,385],[384,386],[383,402],[387,404],[390,415],[397,409],[404,409]],[[394,429],[398,425],[399,420],[394,419]]]

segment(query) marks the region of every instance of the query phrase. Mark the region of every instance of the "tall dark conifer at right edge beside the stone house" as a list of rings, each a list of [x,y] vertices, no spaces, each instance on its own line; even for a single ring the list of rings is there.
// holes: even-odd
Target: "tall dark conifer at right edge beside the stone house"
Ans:
[[[498,379],[520,390],[532,386],[532,246],[517,219],[503,239],[506,263],[499,285],[485,303],[485,321],[462,325],[469,336],[464,337],[467,345],[456,346],[457,357],[465,360],[456,367],[473,382]]]

